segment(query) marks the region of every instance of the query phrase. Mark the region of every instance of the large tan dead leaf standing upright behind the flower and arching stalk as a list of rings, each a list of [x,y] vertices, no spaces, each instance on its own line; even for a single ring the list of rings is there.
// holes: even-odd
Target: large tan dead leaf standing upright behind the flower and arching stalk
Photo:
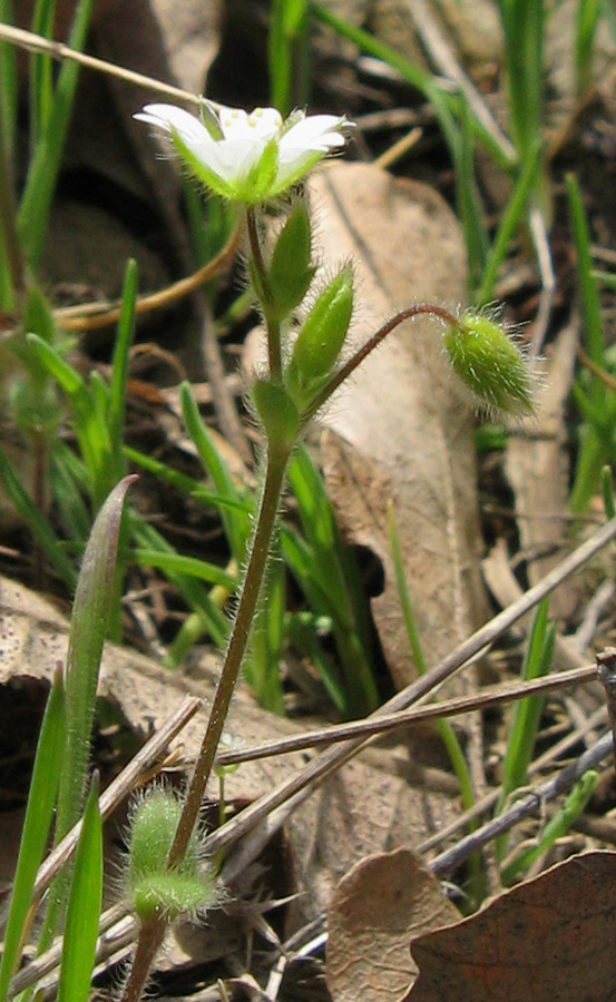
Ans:
[[[463,299],[460,228],[431,188],[374,166],[335,164],[312,181],[312,199],[325,259],[356,262],[355,345],[397,308],[418,301],[456,308]],[[443,360],[440,333],[426,318],[399,327],[324,419],[330,497],[348,538],[384,567],[373,611],[399,687],[415,672],[385,527],[390,498],[428,662],[483,616],[472,413]]]

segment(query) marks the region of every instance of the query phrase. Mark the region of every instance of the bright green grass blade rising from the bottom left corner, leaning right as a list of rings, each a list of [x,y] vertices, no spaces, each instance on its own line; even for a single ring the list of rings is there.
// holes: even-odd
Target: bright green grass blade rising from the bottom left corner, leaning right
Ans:
[[[28,806],[13,881],[0,963],[0,1002],[20,962],[37,871],[48,842],[63,757],[66,701],[61,670],[53,677],[32,768]]]

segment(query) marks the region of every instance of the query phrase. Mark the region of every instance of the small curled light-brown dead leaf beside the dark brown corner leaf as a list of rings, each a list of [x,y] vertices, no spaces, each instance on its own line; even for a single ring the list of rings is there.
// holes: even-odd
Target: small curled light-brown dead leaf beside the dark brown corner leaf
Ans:
[[[409,934],[456,922],[458,910],[410,849],[369,856],[338,885],[327,912],[327,988],[334,1002],[395,1002],[418,969]]]

